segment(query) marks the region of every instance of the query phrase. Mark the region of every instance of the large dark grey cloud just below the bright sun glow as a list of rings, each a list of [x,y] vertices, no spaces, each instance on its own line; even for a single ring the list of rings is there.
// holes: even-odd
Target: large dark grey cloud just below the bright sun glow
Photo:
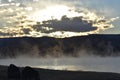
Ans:
[[[93,27],[93,23],[86,20],[82,20],[81,17],[68,18],[67,16],[62,16],[61,20],[48,20],[43,21],[42,24],[34,25],[34,28],[38,31],[42,27],[52,28],[52,30],[46,30],[46,32],[55,32],[55,31],[70,31],[70,32],[88,32],[96,30],[96,27]],[[45,32],[45,31],[43,31]]]

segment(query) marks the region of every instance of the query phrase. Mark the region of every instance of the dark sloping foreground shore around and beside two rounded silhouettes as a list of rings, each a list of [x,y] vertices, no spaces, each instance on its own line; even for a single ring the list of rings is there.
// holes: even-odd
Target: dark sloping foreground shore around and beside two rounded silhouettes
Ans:
[[[20,68],[21,70],[23,68]],[[6,79],[6,66],[0,66],[0,80]],[[120,80],[120,74],[89,71],[59,71],[35,68],[41,80]]]

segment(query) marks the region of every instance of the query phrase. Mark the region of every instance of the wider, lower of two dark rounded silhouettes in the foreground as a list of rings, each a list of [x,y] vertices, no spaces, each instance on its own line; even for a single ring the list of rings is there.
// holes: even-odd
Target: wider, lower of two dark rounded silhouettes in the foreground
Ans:
[[[39,73],[33,68],[26,66],[22,70],[22,80],[40,80]]]

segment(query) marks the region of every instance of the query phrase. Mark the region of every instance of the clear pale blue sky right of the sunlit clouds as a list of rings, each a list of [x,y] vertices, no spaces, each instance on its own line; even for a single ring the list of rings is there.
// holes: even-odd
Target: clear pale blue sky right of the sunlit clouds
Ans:
[[[120,0],[80,0],[89,9],[93,9],[98,13],[103,13],[106,17],[120,17]],[[102,31],[104,34],[120,34],[120,19],[114,23],[114,28]]]

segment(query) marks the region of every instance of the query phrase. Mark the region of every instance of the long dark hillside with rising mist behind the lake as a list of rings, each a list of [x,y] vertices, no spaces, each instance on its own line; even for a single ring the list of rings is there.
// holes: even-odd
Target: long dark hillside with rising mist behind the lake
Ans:
[[[36,57],[79,57],[81,54],[119,56],[120,35],[89,35],[70,38],[0,38],[0,58],[19,55]]]

